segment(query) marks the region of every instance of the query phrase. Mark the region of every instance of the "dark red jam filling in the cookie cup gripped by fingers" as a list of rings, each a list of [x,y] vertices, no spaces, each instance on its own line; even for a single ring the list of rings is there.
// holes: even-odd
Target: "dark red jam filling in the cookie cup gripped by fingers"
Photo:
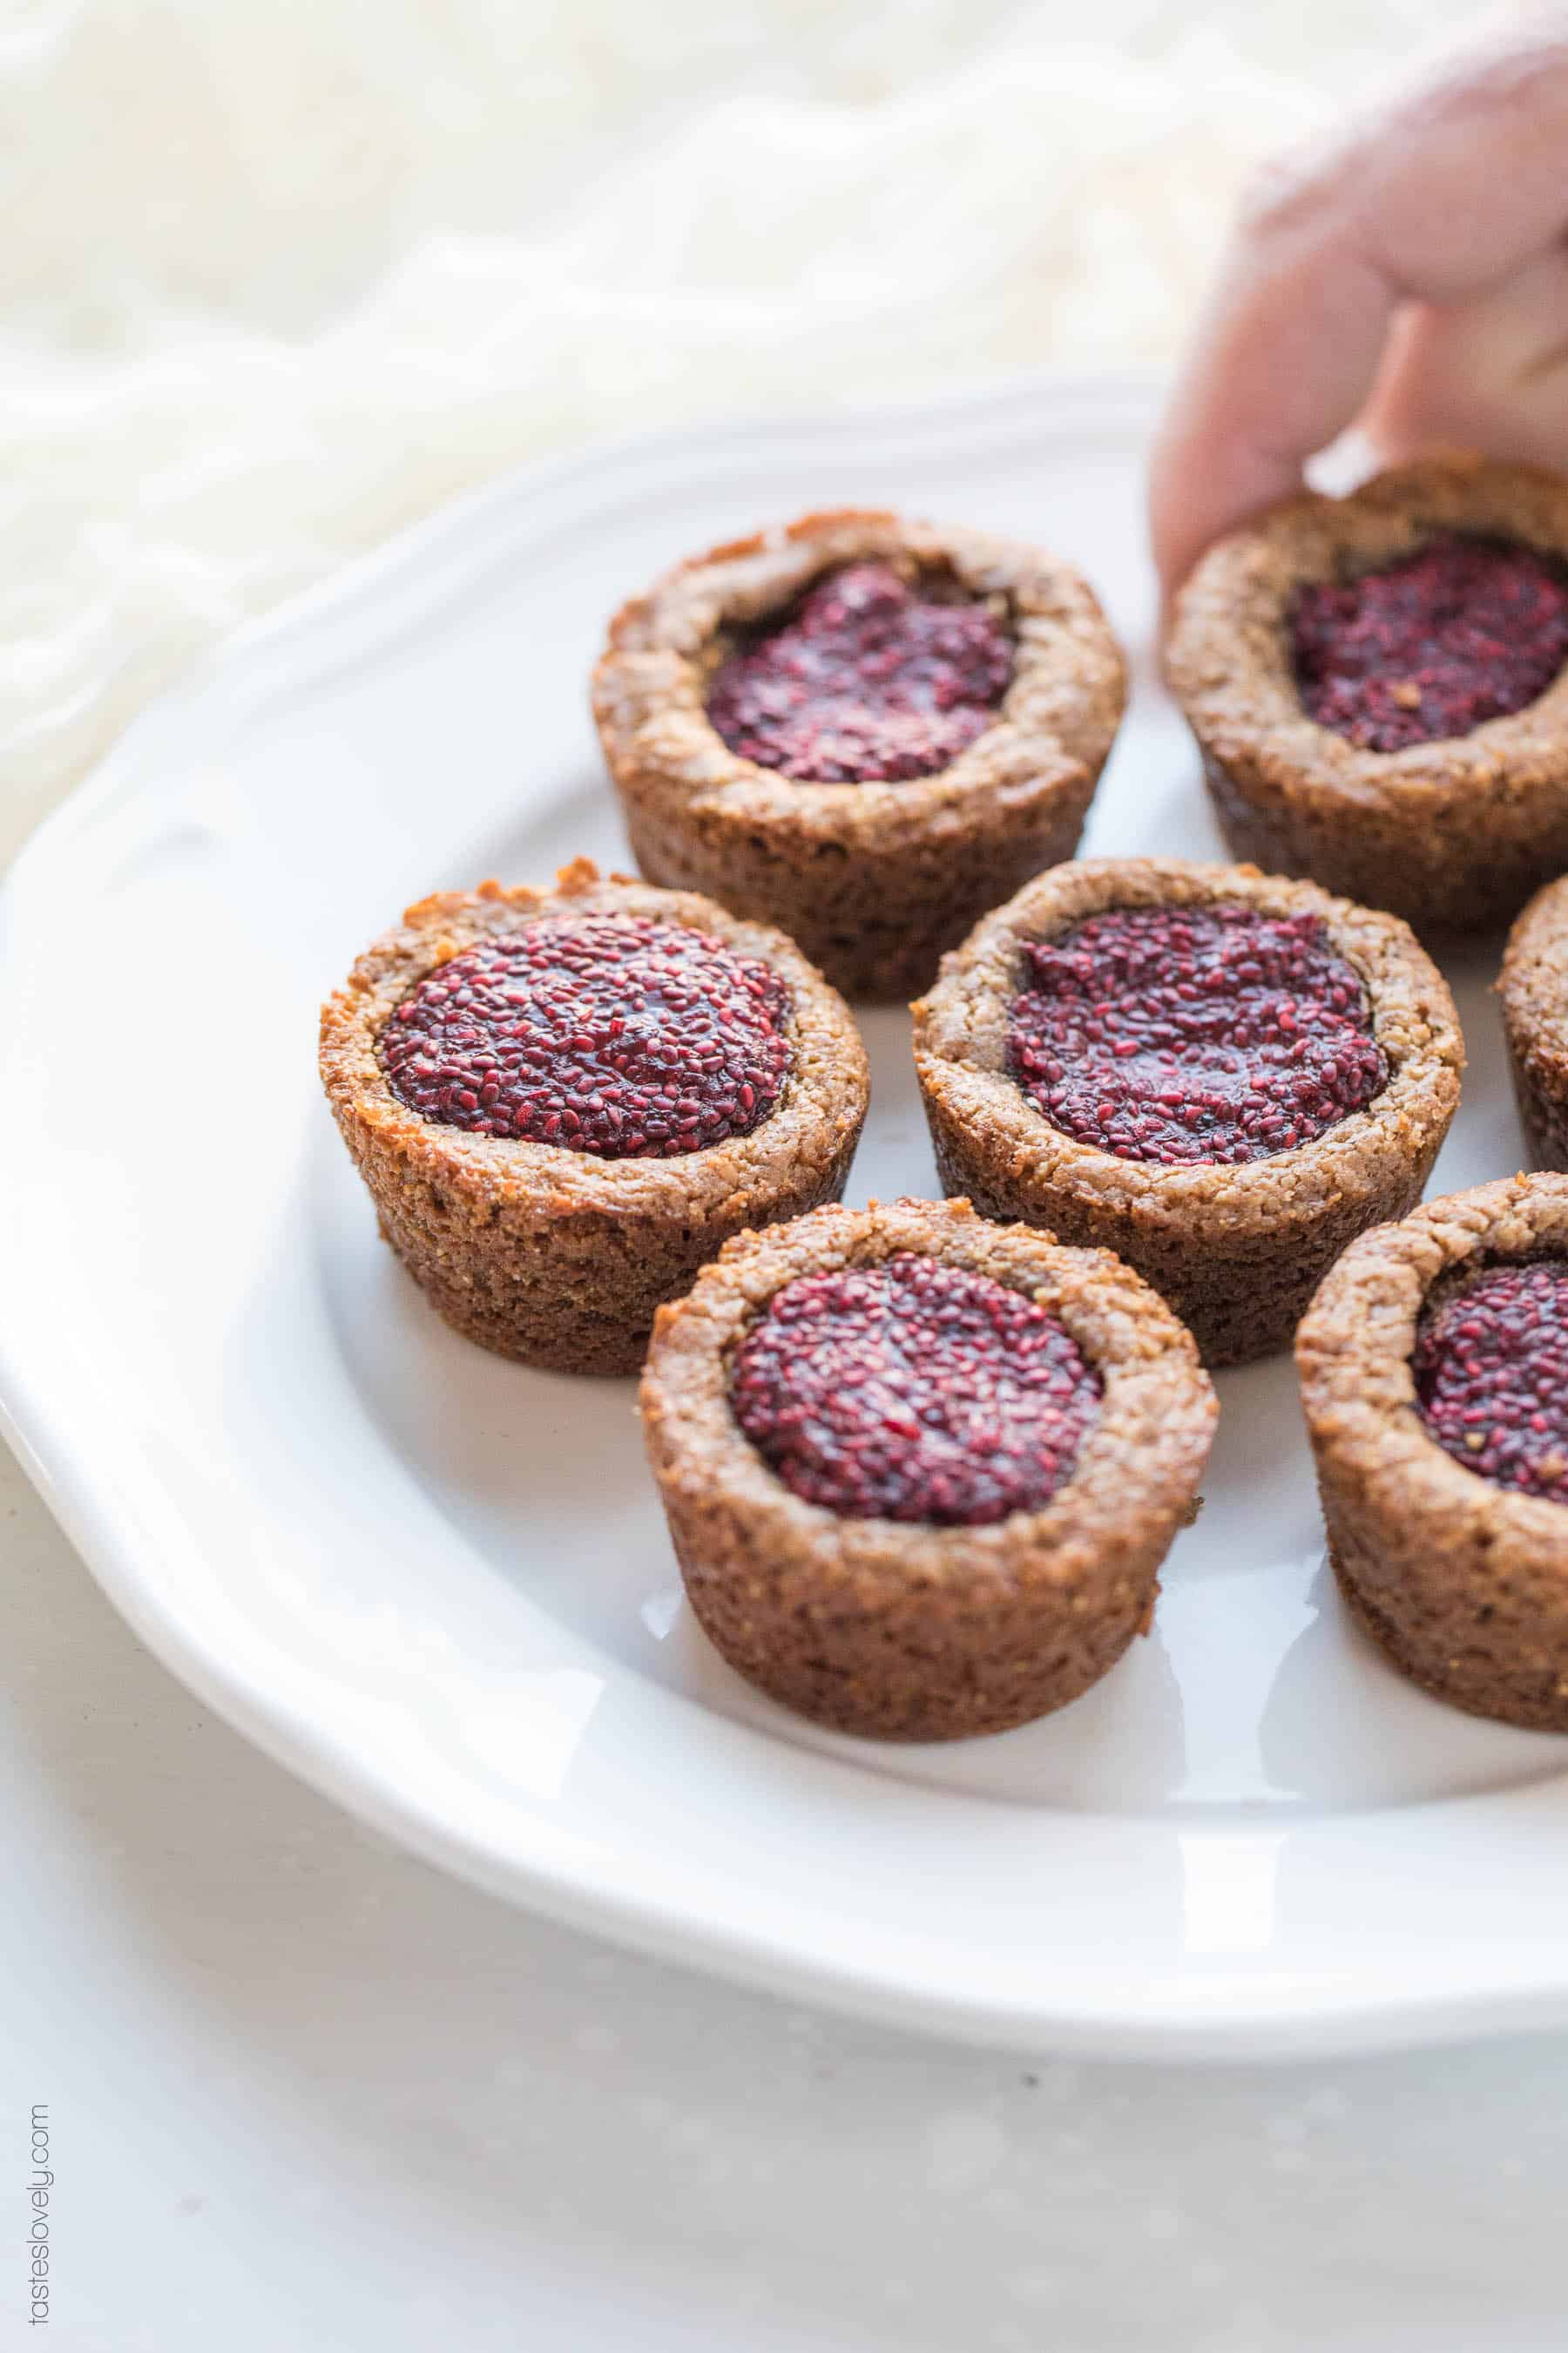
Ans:
[[[1533,548],[1446,532],[1291,605],[1302,704],[1363,751],[1469,734],[1523,711],[1568,661],[1568,572]]]

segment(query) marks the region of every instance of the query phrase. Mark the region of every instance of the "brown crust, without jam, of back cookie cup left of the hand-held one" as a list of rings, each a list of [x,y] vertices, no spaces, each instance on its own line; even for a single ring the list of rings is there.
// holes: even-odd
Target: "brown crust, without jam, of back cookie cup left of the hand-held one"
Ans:
[[[708,720],[729,628],[818,574],[879,558],[1006,598],[1013,682],[957,760],[903,784],[795,784]],[[776,922],[849,998],[903,1000],[987,906],[1072,856],[1126,704],[1126,664],[1088,581],[1056,555],[879,511],[804,515],[691,555],[623,605],[592,708],[637,864]]]

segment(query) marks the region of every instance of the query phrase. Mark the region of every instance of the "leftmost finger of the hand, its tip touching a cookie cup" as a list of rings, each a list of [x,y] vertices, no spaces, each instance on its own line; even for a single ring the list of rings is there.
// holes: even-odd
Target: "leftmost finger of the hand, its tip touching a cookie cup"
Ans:
[[[1568,221],[1568,12],[1469,54],[1248,207],[1173,395],[1150,522],[1166,591],[1354,421],[1403,304],[1465,304]]]

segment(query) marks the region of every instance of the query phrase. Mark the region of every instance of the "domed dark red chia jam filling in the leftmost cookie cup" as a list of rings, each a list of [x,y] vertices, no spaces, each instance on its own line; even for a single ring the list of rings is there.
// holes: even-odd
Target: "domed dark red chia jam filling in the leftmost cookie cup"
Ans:
[[[745,1136],[778,1101],[778,974],[649,915],[543,918],[409,991],[381,1033],[393,1094],[480,1136],[668,1160]]]

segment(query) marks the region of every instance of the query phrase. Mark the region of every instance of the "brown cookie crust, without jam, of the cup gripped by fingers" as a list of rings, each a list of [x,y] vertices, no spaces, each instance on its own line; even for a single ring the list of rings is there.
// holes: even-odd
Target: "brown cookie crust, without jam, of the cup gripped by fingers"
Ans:
[[[1568,671],[1467,736],[1375,753],[1307,718],[1291,664],[1295,588],[1371,572],[1436,532],[1568,560],[1568,480],[1432,456],[1347,499],[1286,499],[1201,558],[1175,605],[1166,678],[1237,856],[1314,875],[1420,932],[1481,932],[1568,866]]]

